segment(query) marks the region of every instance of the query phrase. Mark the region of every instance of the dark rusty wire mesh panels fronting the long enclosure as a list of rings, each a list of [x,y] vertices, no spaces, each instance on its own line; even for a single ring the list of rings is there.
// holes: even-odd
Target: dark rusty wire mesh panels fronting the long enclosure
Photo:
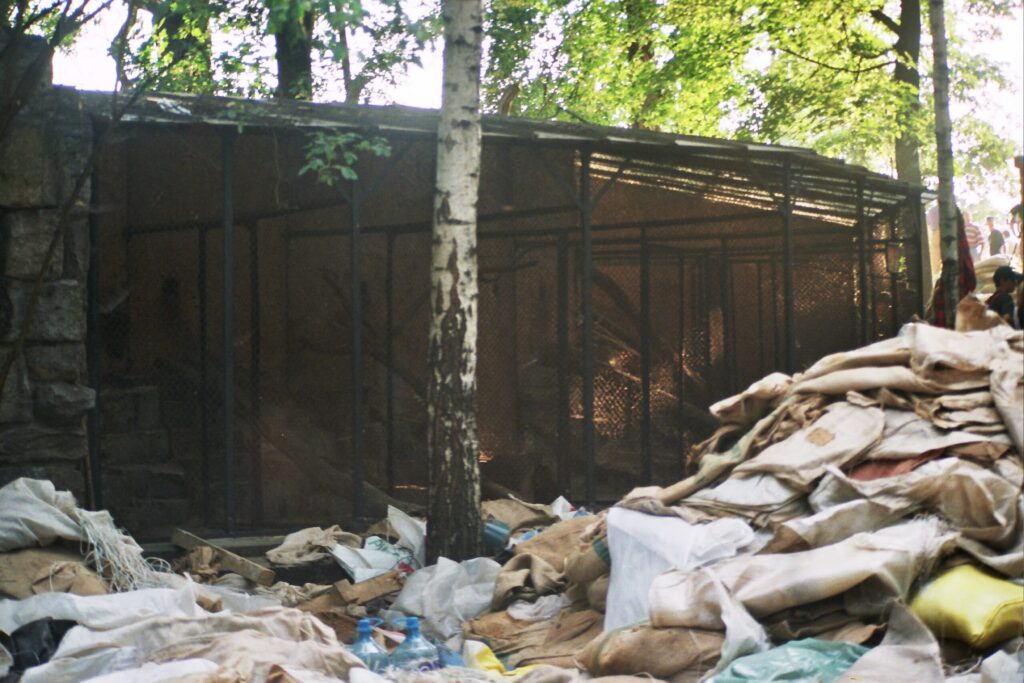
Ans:
[[[396,139],[391,158],[361,162],[357,213],[349,184],[299,174],[304,143],[140,126],[104,154],[100,456],[111,508],[130,528],[346,520],[353,463],[368,516],[385,513],[388,495],[426,501],[433,141]],[[563,146],[485,147],[477,416],[492,496],[581,502],[587,490],[580,159]],[[776,208],[707,199],[708,178],[695,189],[685,175],[616,175],[633,162],[604,163],[590,216],[599,501],[681,477],[713,424],[708,407],[784,369],[791,334],[799,370],[918,310],[904,213],[869,216],[865,292],[853,221],[795,221],[787,331]]]

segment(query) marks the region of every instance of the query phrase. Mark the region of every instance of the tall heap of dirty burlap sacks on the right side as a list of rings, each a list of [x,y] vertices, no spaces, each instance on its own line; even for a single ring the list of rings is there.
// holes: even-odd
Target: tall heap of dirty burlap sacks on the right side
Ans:
[[[1019,331],[912,324],[765,377],[693,476],[516,546],[465,635],[592,676],[1024,680],[1022,376]],[[506,608],[538,596],[563,604]]]

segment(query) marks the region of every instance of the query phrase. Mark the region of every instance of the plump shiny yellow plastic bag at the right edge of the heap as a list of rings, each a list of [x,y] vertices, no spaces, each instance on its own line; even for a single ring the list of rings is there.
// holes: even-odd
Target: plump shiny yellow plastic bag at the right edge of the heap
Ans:
[[[939,638],[985,649],[1021,635],[1024,587],[962,564],[925,586],[910,610]]]

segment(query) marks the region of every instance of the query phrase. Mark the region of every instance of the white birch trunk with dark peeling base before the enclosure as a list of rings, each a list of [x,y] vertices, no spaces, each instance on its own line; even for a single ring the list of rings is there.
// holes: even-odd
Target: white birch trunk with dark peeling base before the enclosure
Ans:
[[[461,560],[480,546],[476,430],[476,200],[480,176],[480,0],[444,0],[431,249],[427,554]]]

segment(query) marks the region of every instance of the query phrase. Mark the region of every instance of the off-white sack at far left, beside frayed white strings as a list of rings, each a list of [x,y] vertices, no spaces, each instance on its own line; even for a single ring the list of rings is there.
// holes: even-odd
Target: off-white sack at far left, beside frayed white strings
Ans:
[[[0,552],[84,541],[75,497],[42,479],[20,478],[0,488]]]

